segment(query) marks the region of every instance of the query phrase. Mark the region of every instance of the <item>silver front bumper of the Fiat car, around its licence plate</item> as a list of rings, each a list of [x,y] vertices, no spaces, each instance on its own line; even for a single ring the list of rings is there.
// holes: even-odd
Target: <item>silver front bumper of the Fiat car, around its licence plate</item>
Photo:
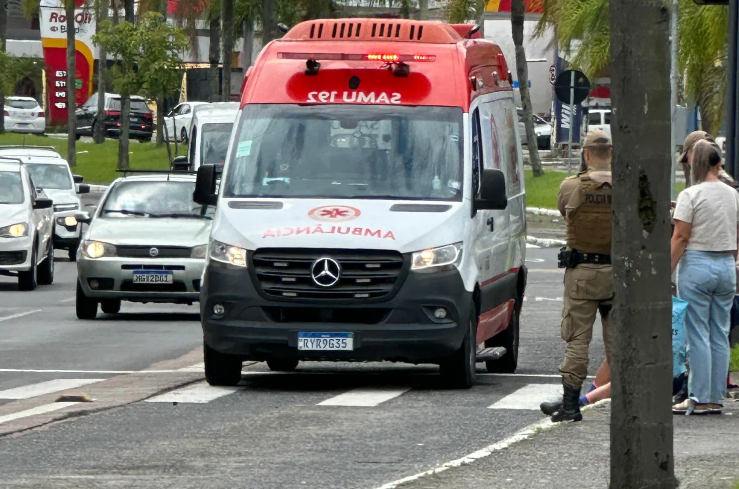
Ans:
[[[200,298],[202,259],[144,259],[117,256],[87,258],[77,252],[77,273],[85,295],[92,298],[115,298],[135,302],[192,303]],[[135,270],[166,270],[172,273],[171,284],[134,284]],[[91,287],[97,284],[97,287]]]

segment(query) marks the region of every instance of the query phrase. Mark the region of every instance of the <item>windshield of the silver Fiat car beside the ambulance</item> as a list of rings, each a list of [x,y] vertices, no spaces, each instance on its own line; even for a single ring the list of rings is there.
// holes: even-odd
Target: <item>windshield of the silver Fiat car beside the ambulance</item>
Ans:
[[[119,182],[108,194],[103,217],[183,217],[212,219],[214,208],[192,199],[195,182]]]

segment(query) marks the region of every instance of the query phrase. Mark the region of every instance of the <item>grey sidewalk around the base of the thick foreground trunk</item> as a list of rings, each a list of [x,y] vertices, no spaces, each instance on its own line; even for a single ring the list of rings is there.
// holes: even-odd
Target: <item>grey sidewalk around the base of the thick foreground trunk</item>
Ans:
[[[403,489],[603,489],[610,472],[610,403],[580,423],[534,430],[527,440],[468,465],[406,482]],[[723,415],[674,416],[675,476],[680,488],[734,489],[739,482],[739,400]],[[484,429],[483,426],[480,429]]]

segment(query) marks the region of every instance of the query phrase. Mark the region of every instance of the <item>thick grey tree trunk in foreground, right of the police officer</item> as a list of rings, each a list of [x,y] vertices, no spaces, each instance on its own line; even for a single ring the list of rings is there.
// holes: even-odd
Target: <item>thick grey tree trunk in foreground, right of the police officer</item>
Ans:
[[[610,489],[674,489],[670,10],[610,4],[613,327]]]

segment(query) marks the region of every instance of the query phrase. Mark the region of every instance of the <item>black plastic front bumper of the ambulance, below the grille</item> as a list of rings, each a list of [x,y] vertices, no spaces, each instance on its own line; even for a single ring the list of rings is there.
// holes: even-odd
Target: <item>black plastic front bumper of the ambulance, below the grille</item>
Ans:
[[[403,361],[435,363],[460,348],[472,293],[454,269],[408,273],[386,301],[338,305],[268,298],[243,267],[210,261],[202,284],[200,317],[205,343],[245,360]],[[214,304],[225,313],[217,316]],[[443,307],[446,318],[434,310]],[[352,332],[353,351],[298,350],[298,332]]]

